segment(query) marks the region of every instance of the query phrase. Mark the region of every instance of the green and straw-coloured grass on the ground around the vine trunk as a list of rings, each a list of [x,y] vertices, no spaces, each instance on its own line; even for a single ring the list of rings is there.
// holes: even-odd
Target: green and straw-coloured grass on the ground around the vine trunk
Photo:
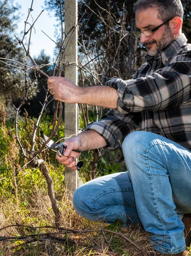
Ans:
[[[71,200],[71,193],[63,188],[63,167],[49,163],[49,171],[53,178],[56,198],[59,201],[61,211],[62,230],[54,228],[43,228],[42,226],[54,226],[54,213],[51,202],[47,195],[47,185],[42,173],[37,169],[22,169],[15,176],[12,175],[20,165],[20,153],[18,145],[15,144],[14,137],[7,133],[5,128],[5,116],[3,108],[0,110],[1,130],[3,138],[1,143],[0,164],[3,168],[0,180],[0,237],[19,237],[36,234],[36,240],[7,241],[0,240],[0,255],[3,256],[160,256],[156,254],[149,245],[149,235],[140,225],[132,224],[126,229],[115,227],[112,230],[122,233],[109,233],[108,225],[94,223],[81,218],[74,211]],[[23,129],[24,132],[27,129]],[[9,137],[9,140],[8,140]],[[1,149],[2,148],[2,149]],[[23,226],[13,226],[22,224]],[[25,226],[25,227],[24,227]],[[26,226],[39,227],[31,229]],[[111,228],[110,228],[111,229]],[[87,230],[86,233],[68,233],[66,230]],[[90,232],[90,230],[94,230]],[[97,231],[100,230],[100,231]],[[55,233],[62,231],[62,234],[54,235],[62,242],[55,242],[52,236],[43,235],[45,233]],[[43,238],[46,238],[43,240]],[[18,239],[17,239],[18,240]],[[139,250],[135,244],[143,250]],[[191,256],[191,253],[189,254]]]

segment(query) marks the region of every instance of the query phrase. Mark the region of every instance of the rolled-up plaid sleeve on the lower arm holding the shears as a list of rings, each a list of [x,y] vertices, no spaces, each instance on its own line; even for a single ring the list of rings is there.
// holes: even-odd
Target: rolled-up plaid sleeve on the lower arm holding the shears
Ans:
[[[86,130],[93,130],[100,134],[106,141],[105,150],[115,150],[120,146],[120,139],[132,131],[140,129],[140,113],[116,113],[111,110],[98,122],[91,122]]]

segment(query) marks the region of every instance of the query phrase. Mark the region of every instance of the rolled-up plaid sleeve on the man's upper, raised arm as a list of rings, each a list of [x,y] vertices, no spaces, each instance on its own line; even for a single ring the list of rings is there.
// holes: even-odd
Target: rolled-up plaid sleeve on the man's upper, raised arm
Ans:
[[[149,76],[114,78],[106,85],[117,90],[117,113],[175,108],[191,98],[191,61],[174,60]]]

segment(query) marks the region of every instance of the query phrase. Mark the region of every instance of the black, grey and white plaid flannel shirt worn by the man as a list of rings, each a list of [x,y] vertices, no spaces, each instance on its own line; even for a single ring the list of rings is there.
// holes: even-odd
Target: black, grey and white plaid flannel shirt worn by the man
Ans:
[[[137,130],[160,134],[191,151],[191,44],[180,35],[146,63],[133,79],[106,82],[117,90],[117,109],[90,123],[115,150],[119,140]]]

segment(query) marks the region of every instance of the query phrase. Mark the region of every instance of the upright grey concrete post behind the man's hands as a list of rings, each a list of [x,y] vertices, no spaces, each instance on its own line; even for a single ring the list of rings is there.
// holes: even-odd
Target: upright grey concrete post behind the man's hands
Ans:
[[[77,0],[65,0],[65,34],[71,31],[72,27],[77,24],[78,9]],[[69,43],[68,43],[69,40]],[[68,45],[67,45],[68,43]],[[66,47],[67,45],[67,47]],[[77,28],[66,39],[65,43],[65,62],[69,61],[77,64]],[[65,77],[78,85],[77,65],[67,66],[65,69]],[[65,137],[77,134],[79,130],[79,111],[77,104],[65,104]],[[78,172],[65,168],[65,184],[68,190],[74,192],[78,187]]]

